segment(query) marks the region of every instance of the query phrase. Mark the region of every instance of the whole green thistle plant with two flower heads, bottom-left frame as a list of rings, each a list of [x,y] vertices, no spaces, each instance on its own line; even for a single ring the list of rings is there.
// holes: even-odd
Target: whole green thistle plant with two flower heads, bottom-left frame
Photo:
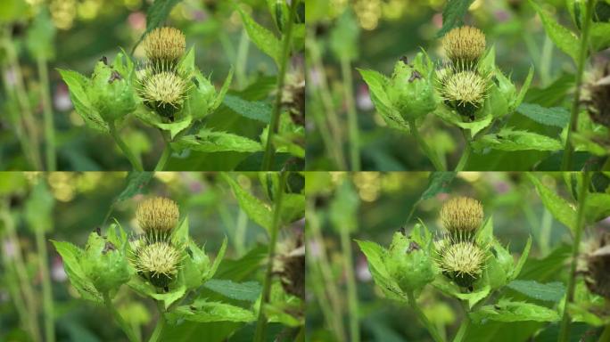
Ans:
[[[161,340],[166,323],[199,322],[201,317],[205,322],[255,320],[250,310],[197,297],[196,289],[216,273],[227,239],[211,263],[204,248],[189,236],[188,220],[180,218],[177,203],[167,198],[140,202],[136,222],[139,231],[130,236],[119,222],[111,224],[106,235],[95,230],[85,249],[53,241],[72,286],[83,299],[105,305],[130,341],[140,341],[140,333],[112,303],[122,285],[157,303],[160,318],[149,341]]]

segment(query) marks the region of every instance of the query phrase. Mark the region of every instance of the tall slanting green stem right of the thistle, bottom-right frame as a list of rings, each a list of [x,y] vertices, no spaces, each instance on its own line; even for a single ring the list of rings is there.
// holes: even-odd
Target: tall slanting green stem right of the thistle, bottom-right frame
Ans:
[[[561,330],[559,330],[559,342],[566,342],[570,337],[570,314],[568,313],[568,305],[573,302],[574,289],[576,287],[576,265],[578,264],[578,254],[581,245],[581,235],[584,230],[584,210],[587,200],[587,188],[589,187],[590,173],[584,172],[582,175],[581,189],[578,194],[578,211],[576,214],[576,229],[574,232],[574,240],[572,246],[572,265],[570,265],[570,278],[568,278],[567,294],[565,295],[564,317],[561,321]]]

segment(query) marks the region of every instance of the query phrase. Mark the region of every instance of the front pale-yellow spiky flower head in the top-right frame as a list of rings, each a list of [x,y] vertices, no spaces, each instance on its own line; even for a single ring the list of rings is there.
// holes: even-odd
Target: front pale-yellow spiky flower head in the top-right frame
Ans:
[[[458,113],[474,119],[487,97],[488,80],[474,71],[460,71],[441,79],[441,96]]]

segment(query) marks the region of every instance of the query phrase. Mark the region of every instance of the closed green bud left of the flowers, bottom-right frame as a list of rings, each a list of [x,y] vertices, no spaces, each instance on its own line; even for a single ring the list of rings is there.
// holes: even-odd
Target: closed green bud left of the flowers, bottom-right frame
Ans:
[[[404,291],[423,289],[439,273],[429,250],[401,232],[394,233],[384,264]]]

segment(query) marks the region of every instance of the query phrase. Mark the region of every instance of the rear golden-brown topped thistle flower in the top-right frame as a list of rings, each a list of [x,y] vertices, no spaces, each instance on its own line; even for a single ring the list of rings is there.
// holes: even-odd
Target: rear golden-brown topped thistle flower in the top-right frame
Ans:
[[[485,51],[485,35],[471,26],[453,28],[442,38],[442,47],[451,61],[476,61]]]

